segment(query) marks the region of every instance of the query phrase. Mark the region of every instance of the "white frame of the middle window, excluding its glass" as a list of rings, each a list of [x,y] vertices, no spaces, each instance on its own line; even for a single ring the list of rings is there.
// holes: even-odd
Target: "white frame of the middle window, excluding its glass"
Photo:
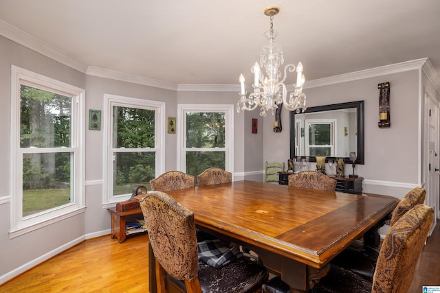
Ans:
[[[102,188],[103,208],[111,207],[115,202],[128,200],[131,194],[122,194],[113,196],[113,152],[121,148],[113,148],[113,106],[126,108],[141,108],[146,110],[155,110],[155,148],[148,148],[148,151],[155,152],[155,176],[163,173],[165,165],[165,130],[166,130],[166,108],[164,102],[151,101],[148,99],[139,99],[135,97],[124,97],[121,95],[104,94],[105,123],[104,130],[104,158],[102,164],[102,174],[104,174],[104,185]],[[126,152],[145,152],[145,148],[130,148]]]

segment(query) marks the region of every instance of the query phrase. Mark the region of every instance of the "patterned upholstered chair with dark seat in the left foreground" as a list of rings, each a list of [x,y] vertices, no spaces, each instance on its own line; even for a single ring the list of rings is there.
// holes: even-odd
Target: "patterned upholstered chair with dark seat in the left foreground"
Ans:
[[[155,256],[157,292],[255,292],[267,281],[267,270],[244,257],[220,269],[199,263],[194,213],[168,194],[152,191],[140,207]]]

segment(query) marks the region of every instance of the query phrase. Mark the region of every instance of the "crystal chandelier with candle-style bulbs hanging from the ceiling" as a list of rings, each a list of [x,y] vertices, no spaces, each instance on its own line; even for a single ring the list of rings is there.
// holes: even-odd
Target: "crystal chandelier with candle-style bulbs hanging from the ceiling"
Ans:
[[[284,75],[281,78],[281,71],[278,70],[280,65],[284,64],[283,48],[281,45],[274,43],[278,32],[274,30],[274,15],[280,12],[277,6],[270,6],[265,8],[264,14],[270,16],[270,30],[264,33],[264,36],[269,40],[269,43],[263,47],[260,52],[260,64],[255,62],[251,68],[254,73],[254,92],[249,94],[245,92],[245,78],[243,74],[240,75],[240,99],[236,103],[236,110],[254,110],[257,106],[261,107],[260,115],[265,117],[269,110],[278,108],[281,104],[290,111],[296,110],[296,113],[306,110],[305,93],[303,93],[303,85],[305,77],[303,74],[303,65],[301,62],[295,67],[293,64],[288,64],[284,68]],[[265,69],[266,75],[261,71],[261,67]],[[284,81],[287,77],[287,71],[294,72],[296,68],[296,84],[294,84],[294,91],[289,93],[287,99],[287,88]]]

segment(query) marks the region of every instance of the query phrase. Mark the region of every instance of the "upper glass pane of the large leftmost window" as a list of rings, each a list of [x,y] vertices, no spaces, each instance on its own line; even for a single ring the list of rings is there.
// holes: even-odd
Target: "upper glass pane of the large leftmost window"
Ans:
[[[21,84],[20,147],[70,147],[71,115],[71,97]]]

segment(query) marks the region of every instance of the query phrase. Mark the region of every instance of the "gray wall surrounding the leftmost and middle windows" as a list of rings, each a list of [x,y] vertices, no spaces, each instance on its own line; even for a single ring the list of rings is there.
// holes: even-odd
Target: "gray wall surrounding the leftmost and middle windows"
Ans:
[[[110,215],[102,207],[103,130],[85,130],[85,213],[9,239],[10,229],[10,95],[11,65],[86,90],[89,109],[103,110],[104,93],[166,102],[166,116],[177,116],[177,92],[86,75],[0,36],[0,283],[83,241],[110,233]],[[104,121],[104,117],[103,117]],[[87,124],[86,124],[87,125]],[[165,169],[175,169],[177,139],[166,134]]]

